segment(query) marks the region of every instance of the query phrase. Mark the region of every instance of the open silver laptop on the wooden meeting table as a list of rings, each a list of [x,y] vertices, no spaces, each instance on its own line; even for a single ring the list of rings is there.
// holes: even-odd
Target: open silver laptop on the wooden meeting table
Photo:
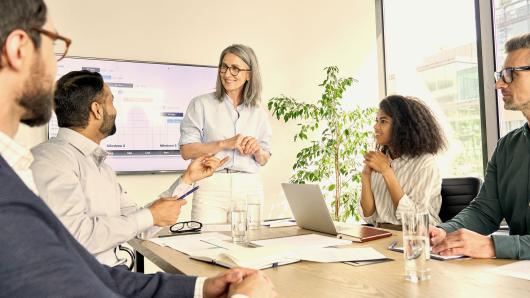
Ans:
[[[282,183],[283,192],[289,202],[299,227],[321,233],[338,235],[339,238],[364,242],[389,237],[392,233],[367,226],[337,226],[333,223],[326,201],[317,184]]]

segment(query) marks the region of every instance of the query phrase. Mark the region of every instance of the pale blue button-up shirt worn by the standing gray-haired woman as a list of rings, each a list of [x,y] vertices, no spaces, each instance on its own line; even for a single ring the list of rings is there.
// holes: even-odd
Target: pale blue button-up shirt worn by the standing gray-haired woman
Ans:
[[[219,101],[214,93],[208,93],[191,100],[180,125],[179,145],[216,142],[237,134],[254,137],[261,149],[271,153],[272,129],[263,109],[243,104],[234,108],[228,95],[225,94]],[[225,168],[246,173],[259,172],[256,160],[240,154],[238,150],[223,150],[216,156],[230,157]]]

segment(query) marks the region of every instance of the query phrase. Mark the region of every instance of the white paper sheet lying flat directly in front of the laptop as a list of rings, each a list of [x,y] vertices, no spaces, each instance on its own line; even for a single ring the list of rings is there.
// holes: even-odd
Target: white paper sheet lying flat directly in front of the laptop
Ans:
[[[307,247],[329,247],[336,245],[351,244],[350,240],[338,239],[335,237],[322,236],[317,234],[298,235],[291,237],[273,238],[266,240],[256,240],[251,242],[258,246],[281,246],[290,245],[297,248]]]

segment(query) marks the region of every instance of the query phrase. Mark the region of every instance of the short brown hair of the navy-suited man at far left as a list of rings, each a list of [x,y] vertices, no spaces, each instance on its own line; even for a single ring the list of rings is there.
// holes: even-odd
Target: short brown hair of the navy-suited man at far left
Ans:
[[[40,33],[32,28],[42,28],[46,23],[48,10],[43,0],[1,0],[0,1],[0,46],[13,30],[28,33],[36,48],[40,48]],[[0,65],[1,67],[1,65]]]

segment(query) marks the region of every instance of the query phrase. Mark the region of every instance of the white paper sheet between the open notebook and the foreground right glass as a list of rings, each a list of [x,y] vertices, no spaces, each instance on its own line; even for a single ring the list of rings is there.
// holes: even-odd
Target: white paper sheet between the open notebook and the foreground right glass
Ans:
[[[331,263],[346,261],[372,261],[386,259],[383,254],[371,247],[363,248],[308,248],[299,250],[302,260]]]

